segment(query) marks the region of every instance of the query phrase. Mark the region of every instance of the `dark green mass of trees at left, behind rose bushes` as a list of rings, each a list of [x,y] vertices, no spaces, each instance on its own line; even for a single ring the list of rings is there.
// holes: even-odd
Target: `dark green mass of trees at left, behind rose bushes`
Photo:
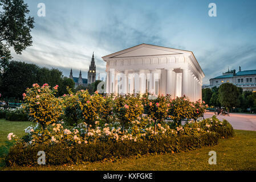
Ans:
[[[48,83],[54,87],[59,85],[57,96],[67,94],[67,86],[74,89],[75,82],[70,78],[63,77],[58,69],[39,68],[35,64],[27,64],[20,61],[10,61],[2,73],[0,93],[2,97],[22,98],[22,93],[32,84],[39,85]]]

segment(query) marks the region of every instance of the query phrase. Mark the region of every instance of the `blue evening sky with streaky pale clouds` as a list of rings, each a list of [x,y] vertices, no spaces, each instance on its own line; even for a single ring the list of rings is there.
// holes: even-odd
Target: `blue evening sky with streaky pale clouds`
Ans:
[[[256,69],[256,1],[232,0],[25,0],[35,17],[33,46],[15,60],[70,69],[87,78],[92,52],[96,71],[105,73],[101,56],[147,43],[193,51],[206,77],[229,69]],[[208,15],[216,3],[217,17]],[[39,17],[38,3],[46,6]]]

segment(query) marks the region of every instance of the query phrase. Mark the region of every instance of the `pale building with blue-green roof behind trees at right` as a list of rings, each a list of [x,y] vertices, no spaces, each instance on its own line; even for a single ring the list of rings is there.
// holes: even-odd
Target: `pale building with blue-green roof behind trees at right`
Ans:
[[[210,85],[205,86],[205,88],[213,88],[214,86],[220,86],[224,83],[231,83],[238,87],[241,87],[243,90],[251,90],[256,92],[256,69],[239,71],[236,73],[234,70],[229,70],[225,73],[222,73],[221,76],[210,79]]]

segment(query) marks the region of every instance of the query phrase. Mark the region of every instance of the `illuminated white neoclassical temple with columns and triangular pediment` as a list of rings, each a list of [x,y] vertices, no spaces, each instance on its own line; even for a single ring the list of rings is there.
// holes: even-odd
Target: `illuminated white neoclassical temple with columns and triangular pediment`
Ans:
[[[191,101],[202,98],[205,75],[192,51],[140,44],[102,59],[107,62],[107,93],[148,90],[156,95],[185,95]]]

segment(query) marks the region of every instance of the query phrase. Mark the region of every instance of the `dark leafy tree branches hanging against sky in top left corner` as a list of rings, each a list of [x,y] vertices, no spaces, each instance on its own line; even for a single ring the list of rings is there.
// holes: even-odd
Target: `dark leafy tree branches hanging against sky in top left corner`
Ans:
[[[27,17],[29,10],[23,0],[0,0],[0,47],[10,57],[10,47],[18,54],[32,45],[30,32],[34,28],[34,18]],[[2,53],[2,52],[1,52]]]

